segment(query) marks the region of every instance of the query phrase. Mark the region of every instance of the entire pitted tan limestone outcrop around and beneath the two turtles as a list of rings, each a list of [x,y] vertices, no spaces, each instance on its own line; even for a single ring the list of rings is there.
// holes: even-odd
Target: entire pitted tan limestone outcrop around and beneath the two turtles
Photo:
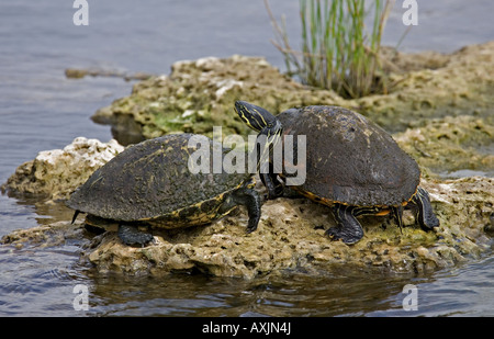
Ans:
[[[170,76],[137,83],[132,95],[100,110],[94,118],[112,124],[115,136],[126,143],[135,143],[181,131],[210,134],[213,125],[223,126],[224,134],[245,135],[247,127],[232,109],[235,99],[272,112],[307,104],[347,106],[389,131],[401,131],[393,136],[419,163],[422,185],[429,191],[441,225],[425,233],[409,212],[402,230],[388,217],[363,217],[363,239],[347,246],[324,236],[334,226],[328,207],[306,199],[279,199],[262,206],[252,234],[245,233],[247,215],[239,208],[204,227],[156,231],[156,244],[145,248],[124,246],[112,231],[91,235],[82,259],[100,271],[128,274],[200,271],[254,278],[285,270],[327,272],[341,265],[423,273],[492,251],[493,57],[494,43],[434,54],[430,59],[394,55],[388,65],[394,69],[393,92],[351,101],[299,84],[262,58],[177,63]],[[65,199],[122,149],[114,142],[78,138],[64,150],[41,152],[20,166],[2,190]],[[445,179],[464,170],[483,177]],[[59,221],[13,231],[0,242],[57,246],[67,237],[86,236],[80,222],[70,226],[69,221]]]

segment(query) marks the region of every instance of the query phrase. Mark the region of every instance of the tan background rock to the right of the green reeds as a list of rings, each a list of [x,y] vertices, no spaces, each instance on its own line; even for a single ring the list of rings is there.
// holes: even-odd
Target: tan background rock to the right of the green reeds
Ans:
[[[494,42],[449,55],[397,54],[391,61],[400,71],[390,76],[395,83],[390,93],[355,101],[360,113],[389,132],[448,115],[472,115],[494,124]]]

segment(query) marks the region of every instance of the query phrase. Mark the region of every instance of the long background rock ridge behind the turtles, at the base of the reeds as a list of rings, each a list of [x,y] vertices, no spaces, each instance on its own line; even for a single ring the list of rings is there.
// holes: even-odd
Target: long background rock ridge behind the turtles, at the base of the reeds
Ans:
[[[386,57],[390,92],[357,100],[304,87],[260,57],[179,61],[169,76],[136,83],[131,95],[115,100],[92,118],[112,125],[122,145],[182,131],[211,136],[212,126],[222,126],[225,134],[246,134],[247,127],[233,112],[235,100],[251,101],[273,113],[300,105],[339,105],[389,132],[447,115],[475,115],[493,124],[494,42],[450,55],[388,52]]]

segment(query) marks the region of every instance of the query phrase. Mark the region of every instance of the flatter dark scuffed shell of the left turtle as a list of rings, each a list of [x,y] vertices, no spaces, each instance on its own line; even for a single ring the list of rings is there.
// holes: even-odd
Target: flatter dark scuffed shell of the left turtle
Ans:
[[[189,147],[192,136],[167,135],[131,146],[98,169],[71,194],[67,205],[90,216],[146,221],[167,228],[212,222],[221,216],[216,212],[225,194],[250,176],[213,173],[213,140],[206,137],[210,173],[192,173],[189,156],[201,147]],[[222,152],[228,150],[223,148]]]

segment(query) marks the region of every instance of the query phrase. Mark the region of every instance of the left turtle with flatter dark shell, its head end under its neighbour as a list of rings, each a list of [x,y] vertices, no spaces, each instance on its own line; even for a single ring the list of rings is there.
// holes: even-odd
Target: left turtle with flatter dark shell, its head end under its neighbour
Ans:
[[[252,174],[214,170],[209,156],[203,158],[205,171],[193,169],[191,155],[200,149],[211,154],[214,147],[221,147],[216,149],[223,157],[231,151],[206,136],[186,133],[126,148],[71,193],[66,205],[76,211],[72,223],[83,212],[87,228],[106,230],[116,225],[125,245],[145,246],[153,240],[149,228],[205,225],[244,205],[247,233],[256,230],[261,200]]]

